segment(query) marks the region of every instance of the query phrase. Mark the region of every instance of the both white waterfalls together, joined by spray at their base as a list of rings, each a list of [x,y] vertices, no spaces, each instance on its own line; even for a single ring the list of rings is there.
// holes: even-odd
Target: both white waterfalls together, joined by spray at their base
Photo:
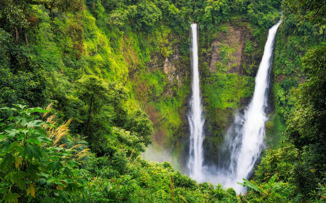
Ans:
[[[273,62],[274,40],[281,20],[270,28],[264,48],[264,54],[256,75],[255,91],[251,102],[243,113],[235,116],[225,136],[225,146],[220,152],[220,161],[215,167],[204,166],[203,160],[203,125],[202,107],[200,104],[199,71],[198,71],[198,37],[197,24],[191,25],[191,67],[193,72],[191,111],[188,116],[190,126],[190,150],[188,167],[190,176],[198,182],[212,181],[225,187],[233,187],[237,192],[245,188],[237,182],[251,175],[261,149],[264,145],[265,122],[269,75]],[[210,169],[210,170],[208,170]]]

